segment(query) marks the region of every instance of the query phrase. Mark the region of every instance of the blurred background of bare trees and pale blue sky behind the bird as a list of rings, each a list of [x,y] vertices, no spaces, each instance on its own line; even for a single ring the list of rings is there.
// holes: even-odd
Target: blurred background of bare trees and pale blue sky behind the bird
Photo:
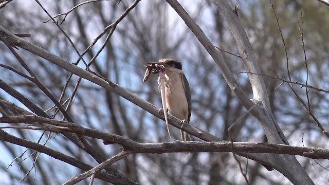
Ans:
[[[93,61],[89,65],[89,71],[83,70],[86,66],[77,62],[80,60],[79,55],[58,26],[50,21],[44,23],[49,16],[34,1],[0,1],[0,26],[13,33],[30,34],[29,38],[25,38],[28,42],[70,61],[82,71],[89,72],[90,79],[95,76],[104,85],[122,87],[133,93],[126,95],[135,95],[156,106],[161,106],[156,90],[156,76],[151,76],[148,83],[142,83],[143,64],[161,58],[178,59],[183,63],[183,70],[191,86],[192,126],[216,138],[230,141],[228,128],[234,123],[234,141],[267,142],[262,127],[231,91],[206,49],[166,2],[140,1],[115,25],[115,30],[111,31],[111,25],[134,3],[136,2],[78,0],[42,2],[56,22],[62,18],[57,15],[70,12],[60,27],[86,63]],[[307,107],[326,130],[329,127],[329,98],[326,92],[317,88],[329,89],[329,78],[326,75],[329,67],[329,55],[326,52],[329,50],[326,44],[329,43],[328,7],[314,0],[273,3],[277,17],[273,16],[268,1],[232,1],[230,4],[232,11],[234,5],[239,4],[237,15],[260,67],[260,72],[254,72],[246,71],[241,58],[229,54],[239,53],[239,50],[224,17],[210,1],[181,2],[211,43],[229,52],[219,51],[231,73],[235,74],[236,84],[247,99],[253,98],[247,73],[271,76],[274,71],[279,77],[287,76],[283,36],[289,55],[289,81],[297,82],[291,86],[307,102]],[[301,23],[301,11],[304,44],[298,27],[298,22]],[[282,36],[277,29],[277,18]],[[147,110],[152,114],[118,94],[100,88],[95,81],[79,80],[80,77],[71,75],[62,67],[24,49],[15,51],[40,83],[65,107],[72,123],[78,124],[77,127],[99,130],[138,143],[169,141],[166,124],[152,115],[158,116],[156,107],[150,103],[144,107],[149,107]],[[304,54],[307,57],[308,75]],[[239,55],[243,56],[241,53]],[[63,120],[58,107],[54,106],[54,102],[40,87],[27,78],[30,77],[27,75],[28,71],[3,42],[0,43],[0,64],[0,87],[3,89],[0,91],[0,99],[22,108],[6,109],[4,104],[0,104],[2,118],[13,113],[22,116],[29,113],[55,121]],[[246,73],[237,73],[239,71]],[[305,89],[300,88],[300,84],[306,84],[306,76],[308,97]],[[276,88],[281,82],[276,78],[264,78],[265,95],[268,96],[273,117],[289,144],[327,148],[327,137],[316,127],[314,118],[291,91],[288,83]],[[310,86],[315,88],[309,88]],[[129,96],[127,98],[134,99],[134,96]],[[175,121],[173,120],[173,124]],[[93,137],[9,128],[24,126],[27,122],[14,125],[1,123],[1,127],[8,128],[0,130],[0,135],[10,136],[13,141],[16,138],[24,144],[33,143],[34,146],[40,146],[40,149],[47,148],[54,152],[53,156],[35,152],[32,147],[26,150],[19,144],[0,142],[0,150],[4,154],[0,160],[0,173],[4,174],[4,178],[0,179],[2,184],[12,184],[23,178],[22,184],[61,184],[122,151],[118,144],[104,146],[101,139]],[[36,125],[34,122],[32,124]],[[170,129],[174,138],[178,139],[179,130],[175,127]],[[200,141],[196,137],[193,139]],[[71,163],[58,161],[56,157],[71,160]],[[247,167],[245,175],[249,184],[291,183],[278,171],[269,172],[258,162],[240,156],[237,159],[241,167]],[[328,183],[327,160],[317,159],[311,164],[307,157],[297,156],[297,159],[314,182]],[[242,184],[246,181],[243,175],[236,174],[239,169],[239,164],[229,153],[134,154],[113,163],[106,171],[97,173],[94,183]],[[89,184],[89,181],[87,178],[79,184]]]

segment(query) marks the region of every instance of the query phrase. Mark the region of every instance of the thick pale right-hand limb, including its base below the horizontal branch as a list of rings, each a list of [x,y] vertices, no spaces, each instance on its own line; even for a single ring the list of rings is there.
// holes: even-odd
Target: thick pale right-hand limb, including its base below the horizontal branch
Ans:
[[[231,30],[246,70],[254,73],[261,73],[258,59],[255,56],[247,34],[237,16],[237,12],[235,13],[225,0],[212,0],[212,2],[224,17]],[[272,114],[263,77],[259,75],[249,75],[248,77],[255,103],[258,105],[251,114],[259,121],[270,143],[289,144]],[[280,155],[276,158],[276,161],[273,162],[276,163],[276,169],[294,184],[314,184],[295,156]]]

